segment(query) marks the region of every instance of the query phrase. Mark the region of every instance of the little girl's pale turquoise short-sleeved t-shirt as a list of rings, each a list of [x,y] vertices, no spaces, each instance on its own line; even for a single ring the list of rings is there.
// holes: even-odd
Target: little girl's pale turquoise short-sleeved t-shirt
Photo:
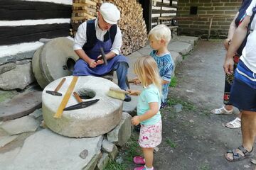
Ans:
[[[159,89],[154,85],[150,84],[142,90],[142,93],[139,95],[139,101],[137,106],[137,115],[143,115],[146,111],[149,111],[149,103],[158,102],[159,109],[161,106],[161,97]],[[155,125],[161,120],[160,111],[156,113],[152,118],[144,120],[141,122],[142,125]]]

